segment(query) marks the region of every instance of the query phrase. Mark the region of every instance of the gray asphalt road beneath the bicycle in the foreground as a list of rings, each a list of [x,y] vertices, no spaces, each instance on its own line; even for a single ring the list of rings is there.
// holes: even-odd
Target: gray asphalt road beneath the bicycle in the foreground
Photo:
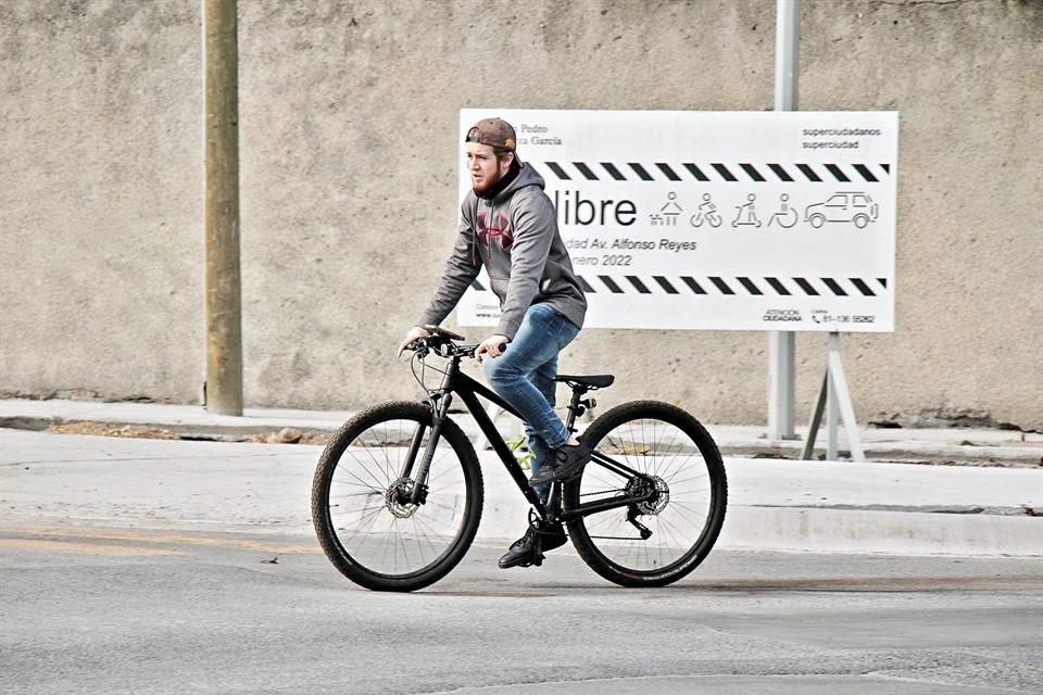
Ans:
[[[0,673],[42,693],[1043,693],[1043,559],[715,551],[624,590],[476,546],[410,595],[310,536],[0,518]]]

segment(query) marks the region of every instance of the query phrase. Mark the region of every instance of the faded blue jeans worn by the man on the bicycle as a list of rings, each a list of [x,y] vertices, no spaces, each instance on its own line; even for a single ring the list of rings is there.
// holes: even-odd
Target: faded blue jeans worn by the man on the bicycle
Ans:
[[[532,472],[548,454],[568,441],[568,430],[554,413],[557,353],[573,342],[579,327],[549,304],[533,304],[507,350],[483,362],[486,380],[500,397],[525,418],[525,433],[532,453]],[[536,488],[544,502],[550,484]]]

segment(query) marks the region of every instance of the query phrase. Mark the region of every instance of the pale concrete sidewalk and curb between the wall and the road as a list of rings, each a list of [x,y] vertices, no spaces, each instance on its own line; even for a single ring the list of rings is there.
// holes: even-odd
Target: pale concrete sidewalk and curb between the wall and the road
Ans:
[[[3,401],[22,426],[55,418],[180,426],[219,432],[330,430],[347,413]],[[260,428],[260,430],[257,429]],[[759,446],[757,428],[711,427],[729,446]],[[995,430],[866,430],[872,446],[925,456],[1010,453],[1000,465],[801,462],[726,455],[732,548],[952,555],[1043,555],[1043,438]],[[1035,439],[1033,439],[1035,438]],[[969,442],[969,443],[968,443]],[[796,444],[799,443],[791,443]],[[969,451],[968,451],[969,450]],[[882,451],[876,450],[876,451]],[[309,500],[321,448],[135,440],[0,429],[0,523],[131,525],[311,533]],[[1017,456],[1014,456],[1017,454]],[[981,455],[981,454],[979,454]],[[486,509],[479,539],[524,530],[526,505],[491,452],[480,455]],[[987,463],[981,460],[979,463]],[[1040,516],[1035,516],[1040,515]]]

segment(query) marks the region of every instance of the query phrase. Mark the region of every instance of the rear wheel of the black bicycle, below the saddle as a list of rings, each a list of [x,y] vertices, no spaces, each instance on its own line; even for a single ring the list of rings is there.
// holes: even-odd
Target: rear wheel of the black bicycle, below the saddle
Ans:
[[[594,420],[583,441],[595,457],[565,483],[566,510],[648,497],[570,521],[568,532],[583,561],[624,586],[663,586],[695,569],[720,533],[728,497],[720,453],[699,420],[668,403],[636,401]],[[646,478],[612,470],[598,454]],[[651,532],[648,538],[642,528]]]

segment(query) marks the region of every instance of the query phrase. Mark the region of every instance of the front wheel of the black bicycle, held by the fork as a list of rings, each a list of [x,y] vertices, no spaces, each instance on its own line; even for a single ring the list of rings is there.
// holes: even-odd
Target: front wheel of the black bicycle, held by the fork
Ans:
[[[478,530],[481,468],[451,420],[443,422],[427,490],[412,502],[431,422],[420,403],[377,405],[344,424],[319,458],[312,483],[315,532],[334,566],[366,589],[414,591],[438,581]]]

